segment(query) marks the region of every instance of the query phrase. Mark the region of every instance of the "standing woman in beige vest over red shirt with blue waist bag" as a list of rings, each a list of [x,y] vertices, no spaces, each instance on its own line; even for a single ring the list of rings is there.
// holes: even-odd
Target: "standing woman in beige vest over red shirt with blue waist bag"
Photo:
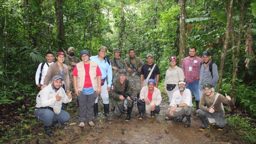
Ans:
[[[101,93],[101,70],[97,63],[90,61],[87,50],[82,50],[80,56],[82,61],[76,64],[72,73],[79,102],[79,126],[84,126],[85,117],[88,124],[94,126],[93,107],[98,94]]]

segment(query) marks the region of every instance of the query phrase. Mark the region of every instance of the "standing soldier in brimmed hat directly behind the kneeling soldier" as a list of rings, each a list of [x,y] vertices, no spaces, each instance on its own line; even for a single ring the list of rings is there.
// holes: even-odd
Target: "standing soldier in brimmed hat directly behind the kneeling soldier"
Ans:
[[[113,51],[114,57],[110,60],[112,65],[112,73],[113,73],[113,81],[118,79],[118,72],[120,69],[125,69],[125,71],[128,70],[128,67],[123,59],[121,59],[120,56],[120,49],[116,48]],[[115,110],[116,107],[116,101],[113,100],[113,97],[111,96],[111,103],[112,103],[112,109],[111,111]],[[125,109],[124,109],[125,111]]]

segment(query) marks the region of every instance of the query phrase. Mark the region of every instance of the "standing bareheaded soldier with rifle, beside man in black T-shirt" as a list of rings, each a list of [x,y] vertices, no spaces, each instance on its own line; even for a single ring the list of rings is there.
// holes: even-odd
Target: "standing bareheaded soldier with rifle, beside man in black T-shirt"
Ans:
[[[124,61],[127,64],[128,71],[130,72],[128,79],[134,84],[137,90],[137,97],[139,97],[140,96],[140,75],[138,75],[133,71],[131,63],[136,67],[136,69],[140,73],[141,67],[144,64],[144,62],[142,61],[142,59],[135,56],[134,49],[129,50],[129,57],[125,58]]]

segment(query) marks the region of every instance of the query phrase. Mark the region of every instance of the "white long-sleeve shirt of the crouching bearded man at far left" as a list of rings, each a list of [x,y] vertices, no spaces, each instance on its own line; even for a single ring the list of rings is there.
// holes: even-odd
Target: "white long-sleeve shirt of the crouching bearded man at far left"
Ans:
[[[60,101],[56,100],[57,94],[61,96]],[[50,106],[53,108],[54,113],[59,114],[62,103],[69,103],[71,101],[72,98],[68,98],[65,90],[62,87],[60,87],[59,90],[55,91],[52,88],[52,83],[50,83],[37,94],[37,105],[35,105],[35,107],[39,108]]]

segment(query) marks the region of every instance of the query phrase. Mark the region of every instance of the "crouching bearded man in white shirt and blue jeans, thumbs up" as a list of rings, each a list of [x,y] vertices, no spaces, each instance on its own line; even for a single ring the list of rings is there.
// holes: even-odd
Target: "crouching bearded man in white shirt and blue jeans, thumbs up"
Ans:
[[[46,86],[37,94],[37,105],[35,105],[35,116],[38,120],[44,121],[45,133],[52,136],[51,128],[53,120],[57,120],[58,124],[64,124],[70,119],[70,115],[61,109],[62,103],[72,101],[71,91],[68,95],[62,86],[62,77],[54,76],[52,83]]]

